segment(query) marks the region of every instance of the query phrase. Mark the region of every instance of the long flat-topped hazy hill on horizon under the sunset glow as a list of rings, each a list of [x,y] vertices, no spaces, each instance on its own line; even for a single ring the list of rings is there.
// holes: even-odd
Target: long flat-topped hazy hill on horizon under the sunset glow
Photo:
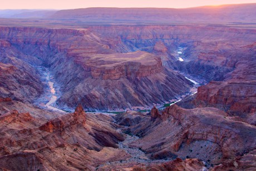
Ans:
[[[81,8],[57,11],[48,18],[85,21],[254,22],[256,3],[195,8]]]

